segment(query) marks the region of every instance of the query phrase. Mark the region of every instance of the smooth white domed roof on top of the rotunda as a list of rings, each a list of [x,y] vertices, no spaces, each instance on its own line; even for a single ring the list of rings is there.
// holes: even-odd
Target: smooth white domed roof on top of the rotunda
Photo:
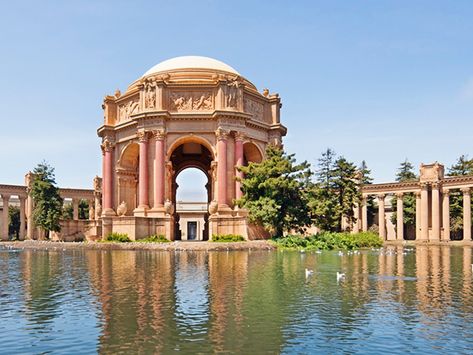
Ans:
[[[231,66],[217,59],[201,56],[182,56],[171,58],[165,60],[164,62],[156,64],[146,73],[144,73],[143,76],[145,77],[151,74],[180,69],[211,69],[240,75],[240,73],[238,73]]]

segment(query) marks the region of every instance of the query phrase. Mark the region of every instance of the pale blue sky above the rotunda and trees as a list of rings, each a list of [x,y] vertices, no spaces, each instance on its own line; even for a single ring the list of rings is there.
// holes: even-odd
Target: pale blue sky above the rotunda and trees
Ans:
[[[202,55],[282,98],[285,149],[328,147],[375,182],[473,157],[473,1],[0,0],[0,184],[43,159],[62,187],[101,175],[104,95]]]

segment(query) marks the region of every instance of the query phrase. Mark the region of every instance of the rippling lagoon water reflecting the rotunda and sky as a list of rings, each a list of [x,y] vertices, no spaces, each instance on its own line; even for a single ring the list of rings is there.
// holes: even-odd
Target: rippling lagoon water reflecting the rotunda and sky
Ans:
[[[471,353],[471,264],[470,247],[0,248],[0,351]]]

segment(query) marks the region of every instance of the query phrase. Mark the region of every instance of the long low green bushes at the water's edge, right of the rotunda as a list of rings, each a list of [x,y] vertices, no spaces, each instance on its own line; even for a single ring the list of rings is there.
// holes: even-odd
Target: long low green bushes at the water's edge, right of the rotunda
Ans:
[[[310,236],[288,235],[273,238],[278,249],[286,250],[354,250],[377,248],[383,245],[381,238],[372,232],[331,233],[322,232]]]

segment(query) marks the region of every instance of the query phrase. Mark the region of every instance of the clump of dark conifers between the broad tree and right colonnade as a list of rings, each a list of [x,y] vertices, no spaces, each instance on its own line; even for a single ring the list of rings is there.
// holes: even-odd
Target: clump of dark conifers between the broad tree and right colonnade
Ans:
[[[342,230],[342,218],[351,225],[355,221],[354,207],[360,202],[359,187],[360,173],[353,163],[336,158],[330,148],[323,152],[309,202],[315,224],[332,232]]]

